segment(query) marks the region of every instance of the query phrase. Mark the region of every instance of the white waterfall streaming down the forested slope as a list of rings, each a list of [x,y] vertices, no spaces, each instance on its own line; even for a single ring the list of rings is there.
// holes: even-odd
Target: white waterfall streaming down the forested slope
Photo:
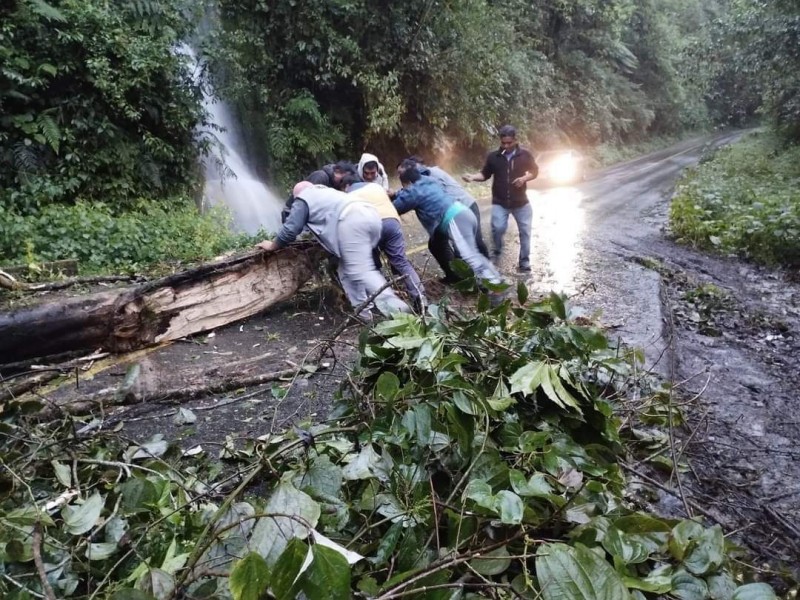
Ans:
[[[194,49],[183,45],[179,52],[189,57],[197,73],[199,64]],[[203,108],[216,126],[214,130],[200,132],[215,140],[210,155],[203,161],[203,203],[228,207],[233,225],[239,231],[253,234],[263,229],[275,233],[281,226],[283,201],[248,166],[239,128],[228,104],[217,98],[210,86],[204,85]]]

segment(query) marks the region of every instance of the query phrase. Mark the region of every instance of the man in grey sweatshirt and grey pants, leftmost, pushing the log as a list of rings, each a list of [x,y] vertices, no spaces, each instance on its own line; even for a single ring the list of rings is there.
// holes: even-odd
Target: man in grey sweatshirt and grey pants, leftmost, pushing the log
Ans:
[[[375,208],[344,192],[308,181],[295,185],[292,195],[295,202],[276,238],[261,242],[259,248],[283,248],[307,227],[325,250],[339,258],[339,281],[353,308],[386,285],[372,258],[381,236],[381,218]],[[376,296],[375,307],[387,316],[411,312],[390,287]],[[365,308],[359,317],[369,321],[372,314]]]

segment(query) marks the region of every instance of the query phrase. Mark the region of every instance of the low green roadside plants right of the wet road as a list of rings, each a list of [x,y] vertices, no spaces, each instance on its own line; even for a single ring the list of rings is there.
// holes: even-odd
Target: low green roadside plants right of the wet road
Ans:
[[[679,182],[670,227],[680,242],[767,265],[800,267],[800,146],[753,134]]]

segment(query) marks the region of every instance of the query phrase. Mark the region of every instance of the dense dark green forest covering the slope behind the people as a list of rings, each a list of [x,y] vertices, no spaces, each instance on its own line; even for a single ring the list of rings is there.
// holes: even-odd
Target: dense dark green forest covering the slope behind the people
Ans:
[[[759,113],[786,139],[800,131],[789,0],[12,0],[0,23],[3,262],[54,256],[35,223],[75,222],[61,207],[101,202],[116,218],[196,198],[214,143],[198,133],[207,81],[237,109],[256,170],[283,183],[367,146],[388,164],[468,159],[504,122],[601,160]]]

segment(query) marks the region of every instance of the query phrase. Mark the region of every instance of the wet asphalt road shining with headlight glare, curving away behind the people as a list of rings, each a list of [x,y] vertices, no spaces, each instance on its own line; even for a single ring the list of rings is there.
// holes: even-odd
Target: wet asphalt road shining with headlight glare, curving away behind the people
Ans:
[[[601,323],[622,341],[644,350],[648,367],[655,365],[664,372],[659,275],[631,257],[646,255],[649,245],[663,237],[669,198],[683,170],[711,148],[739,135],[692,139],[590,173],[585,181],[570,187],[531,182],[533,271],[525,275],[516,272],[519,238],[512,217],[500,265],[503,275],[512,282],[527,281],[534,294],[560,291],[572,296],[576,312],[599,315]],[[479,199],[488,243],[490,183],[467,187]],[[416,217],[411,214],[403,219],[414,262],[428,262],[426,268],[434,268],[428,260],[427,237]]]

